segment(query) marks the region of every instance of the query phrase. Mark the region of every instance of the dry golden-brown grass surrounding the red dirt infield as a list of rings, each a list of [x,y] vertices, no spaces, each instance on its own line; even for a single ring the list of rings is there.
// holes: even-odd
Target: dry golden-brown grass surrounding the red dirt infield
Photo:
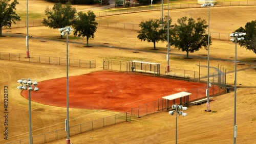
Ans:
[[[19,1],[17,12],[26,18],[26,1]],[[30,19],[42,19],[46,6],[53,4],[45,1],[30,1]],[[244,27],[246,22],[255,20],[255,6],[241,7],[214,7],[211,8],[210,31],[219,33],[231,33],[239,27]],[[77,9],[90,9],[88,6],[77,6]],[[164,11],[166,14],[167,12]],[[201,17],[207,19],[208,9],[180,9],[170,10],[173,23],[182,16]],[[143,12],[125,15],[101,17],[102,20],[116,22],[134,23],[149,18],[159,18],[160,11]],[[7,32],[8,31],[8,32]],[[21,33],[26,35],[26,28],[3,30],[5,33]],[[29,28],[29,33],[33,37],[47,38],[45,42],[40,39],[30,39],[30,54],[52,57],[66,57],[66,39],[59,39],[59,31],[46,27]],[[102,70],[102,60],[135,60],[151,61],[161,63],[166,66],[166,54],[156,54],[155,51],[165,52],[166,43],[157,43],[158,50],[153,49],[153,43],[147,43],[137,39],[138,33],[132,30],[114,29],[98,27],[95,39],[90,39],[92,47],[84,47],[85,38],[75,39],[70,35],[70,41],[82,42],[69,43],[69,57],[74,59],[96,60],[96,68],[85,69],[70,67],[70,76],[88,74],[92,71]],[[25,37],[0,37],[0,52],[6,53],[26,53]],[[105,46],[97,46],[105,45]],[[124,49],[113,49],[109,46],[120,46]],[[125,49],[126,48],[126,49]],[[147,50],[147,51],[141,51]],[[237,143],[254,143],[256,140],[256,90],[255,90],[255,54],[238,45],[238,61],[247,61],[248,64],[238,65],[237,82],[241,84],[237,90]],[[133,53],[139,51],[140,53]],[[171,53],[184,54],[184,56],[170,55],[170,67],[182,68],[198,71],[199,62],[207,65],[207,51],[202,49],[191,56],[204,58],[184,59],[185,53],[172,47]],[[206,55],[206,56],[205,56]],[[210,47],[211,58],[222,58],[234,60],[234,43],[231,41],[213,40]],[[231,61],[210,60],[210,65],[218,67],[218,64],[230,72],[227,74],[227,84],[232,85],[234,80],[234,63]],[[9,140],[4,140],[2,135],[0,143],[7,143],[19,138],[27,138],[28,127],[28,100],[20,96],[20,90],[16,89],[16,81],[20,78],[31,78],[38,82],[66,77],[66,66],[26,63],[17,61],[0,60],[0,85],[2,95],[4,86],[8,86],[9,94]],[[251,67],[247,70],[240,70]],[[201,69],[201,73],[207,74],[207,68]],[[211,69],[210,73],[213,70]],[[66,86],[63,84],[63,86]],[[40,88],[40,85],[38,85]],[[210,103],[210,109],[215,113],[206,113],[206,104],[191,106],[186,111],[186,117],[178,117],[178,143],[231,143],[233,141],[233,95],[234,92],[226,93],[215,97]],[[33,135],[49,132],[64,127],[66,118],[66,108],[48,106],[36,102],[31,102],[32,106],[32,130]],[[4,100],[1,99],[1,112],[4,111]],[[116,114],[114,111],[70,109],[70,125],[75,125],[81,121],[92,121],[97,118]],[[80,119],[79,119],[80,118]],[[5,119],[0,118],[3,124]],[[73,143],[174,143],[175,141],[175,116],[170,116],[167,112],[133,117],[132,123],[122,123],[115,126],[94,130],[84,134],[71,137]],[[0,127],[4,130],[4,125]],[[3,133],[3,132],[2,132]],[[191,142],[192,141],[192,142]],[[60,139],[50,143],[63,143],[65,139]]]

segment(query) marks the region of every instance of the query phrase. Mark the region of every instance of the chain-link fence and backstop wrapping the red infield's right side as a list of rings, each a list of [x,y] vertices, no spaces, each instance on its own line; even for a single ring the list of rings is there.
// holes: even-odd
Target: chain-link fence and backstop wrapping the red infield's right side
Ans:
[[[139,69],[141,69],[142,71],[137,72],[132,70],[131,68],[132,65],[130,61],[126,62],[126,61],[118,61],[118,60],[103,60],[103,69],[106,69],[106,70],[123,71],[125,73],[154,75],[155,77],[170,78],[169,76],[166,75],[166,67],[159,68],[160,73],[159,75],[156,75],[155,72],[157,72],[156,71],[157,68],[153,68],[153,67],[150,68],[149,66],[150,65],[147,65],[147,64],[141,64],[141,66],[138,65]],[[205,67],[205,66],[200,65],[199,69],[201,67]],[[215,67],[211,67],[211,68],[215,68]],[[149,69],[151,69],[150,71],[154,73],[146,73],[146,71],[149,71]],[[209,87],[209,96],[223,93],[225,92],[225,89],[226,89],[226,73],[221,71],[219,68],[215,68],[215,69],[217,71],[216,73],[209,74],[209,81],[211,81],[211,87]],[[198,73],[198,71],[177,69],[177,68],[169,68],[169,71],[174,74],[183,74],[183,75],[189,76],[189,78],[172,77],[173,79],[207,83],[207,75],[206,76],[202,75]],[[206,98],[206,90],[207,90],[207,86],[186,90],[186,92],[192,93],[191,95],[189,95],[189,102]],[[131,114],[132,116],[141,117],[147,114],[168,109],[173,104],[185,104],[185,103],[186,103],[185,99],[176,99],[174,101],[168,101],[168,103],[165,99],[158,99],[158,101],[140,105],[138,106],[138,108],[132,108]]]

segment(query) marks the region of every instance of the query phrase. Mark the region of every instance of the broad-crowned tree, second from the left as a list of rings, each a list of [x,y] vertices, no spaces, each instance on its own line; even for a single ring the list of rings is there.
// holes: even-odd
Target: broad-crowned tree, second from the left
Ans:
[[[62,6],[61,3],[56,3],[52,9],[47,7],[45,14],[47,19],[44,18],[42,24],[49,28],[59,29],[73,25],[76,9],[72,8],[70,3],[66,3],[65,6]],[[60,37],[62,38],[62,35]]]

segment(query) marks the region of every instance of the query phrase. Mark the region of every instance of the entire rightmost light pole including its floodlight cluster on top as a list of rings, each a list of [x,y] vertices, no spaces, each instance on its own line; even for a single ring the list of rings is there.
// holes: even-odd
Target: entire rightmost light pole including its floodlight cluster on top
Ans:
[[[230,34],[230,40],[236,44],[235,57],[234,57],[234,137],[233,144],[236,144],[237,138],[237,41],[244,40],[246,33],[234,32]]]

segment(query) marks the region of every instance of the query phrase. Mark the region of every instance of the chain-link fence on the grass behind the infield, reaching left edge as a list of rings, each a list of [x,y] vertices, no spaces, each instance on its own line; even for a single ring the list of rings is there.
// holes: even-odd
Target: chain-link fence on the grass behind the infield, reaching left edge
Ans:
[[[34,63],[44,63],[44,64],[55,64],[55,65],[67,65],[67,58],[49,57],[49,56],[30,55],[30,58],[27,58],[26,54],[0,52],[0,59],[23,61],[23,62],[34,62]],[[94,67],[96,67],[96,61],[95,60],[69,59],[69,66],[94,68]]]

